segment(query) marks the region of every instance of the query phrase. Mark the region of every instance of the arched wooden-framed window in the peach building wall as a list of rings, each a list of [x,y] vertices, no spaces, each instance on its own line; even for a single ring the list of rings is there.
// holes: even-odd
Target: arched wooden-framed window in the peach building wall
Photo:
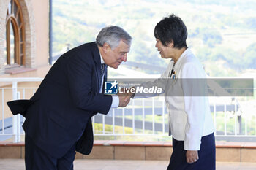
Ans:
[[[11,0],[6,19],[6,68],[25,63],[25,28],[18,0]]]

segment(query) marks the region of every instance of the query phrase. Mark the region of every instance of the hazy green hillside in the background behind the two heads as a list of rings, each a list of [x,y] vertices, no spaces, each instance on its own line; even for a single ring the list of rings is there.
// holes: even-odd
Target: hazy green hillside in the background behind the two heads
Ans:
[[[53,53],[95,40],[104,26],[121,26],[133,37],[129,61],[166,67],[154,47],[154,26],[174,13],[184,20],[187,44],[211,76],[256,69],[256,1],[95,0],[53,1]],[[159,71],[142,70],[148,74]]]

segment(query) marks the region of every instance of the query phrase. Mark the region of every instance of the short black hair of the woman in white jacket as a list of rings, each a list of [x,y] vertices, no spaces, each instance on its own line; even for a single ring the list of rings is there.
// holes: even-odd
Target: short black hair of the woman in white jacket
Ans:
[[[178,16],[172,14],[163,18],[154,28],[154,36],[167,46],[173,41],[174,46],[178,49],[187,47],[187,27]]]

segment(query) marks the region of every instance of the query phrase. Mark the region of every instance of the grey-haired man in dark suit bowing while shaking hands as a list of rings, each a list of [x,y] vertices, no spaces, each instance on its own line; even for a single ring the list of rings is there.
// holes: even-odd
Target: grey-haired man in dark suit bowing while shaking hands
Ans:
[[[61,55],[29,101],[8,102],[14,114],[26,117],[27,170],[73,169],[75,150],[91,152],[91,117],[129,103],[129,96],[108,96],[102,88],[107,66],[127,61],[132,37],[110,26],[96,40]]]

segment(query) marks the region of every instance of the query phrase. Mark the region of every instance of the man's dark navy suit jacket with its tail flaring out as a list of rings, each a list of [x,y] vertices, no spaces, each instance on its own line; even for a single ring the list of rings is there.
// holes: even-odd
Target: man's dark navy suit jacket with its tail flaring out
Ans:
[[[55,158],[61,158],[78,139],[76,150],[91,152],[91,117],[107,114],[112,104],[112,96],[99,93],[100,64],[95,42],[75,47],[53,64],[30,101],[9,103],[14,114],[26,117],[25,133]]]

